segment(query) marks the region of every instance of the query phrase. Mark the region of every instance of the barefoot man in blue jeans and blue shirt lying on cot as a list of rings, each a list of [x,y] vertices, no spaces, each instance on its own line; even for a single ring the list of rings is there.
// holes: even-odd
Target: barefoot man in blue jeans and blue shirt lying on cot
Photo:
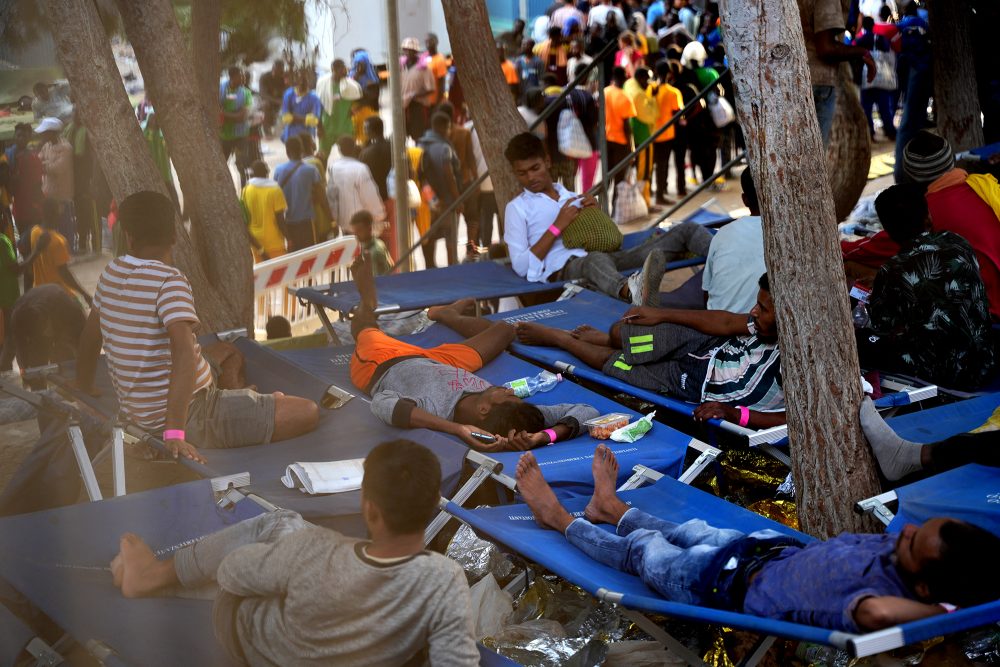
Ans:
[[[604,445],[593,471],[584,518],[560,505],[530,452],[517,464],[517,488],[543,528],[671,602],[859,632],[1000,597],[1000,538],[964,521],[935,518],[898,536],[844,533],[803,545],[774,530],[677,524],[629,508],[615,495],[618,462]]]

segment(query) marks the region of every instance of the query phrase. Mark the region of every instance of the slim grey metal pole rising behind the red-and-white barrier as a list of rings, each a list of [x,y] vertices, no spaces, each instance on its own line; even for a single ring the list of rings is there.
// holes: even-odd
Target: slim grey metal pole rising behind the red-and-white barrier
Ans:
[[[404,253],[410,247],[409,157],[406,154],[406,115],[403,112],[403,68],[399,65],[399,14],[396,0],[385,0],[389,33],[389,92],[392,104],[392,166],[396,186],[396,257],[400,271],[412,271],[413,260]]]

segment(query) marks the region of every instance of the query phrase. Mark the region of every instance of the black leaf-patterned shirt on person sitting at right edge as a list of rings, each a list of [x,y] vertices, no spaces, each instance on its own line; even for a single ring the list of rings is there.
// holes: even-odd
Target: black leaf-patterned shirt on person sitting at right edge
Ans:
[[[986,288],[972,247],[931,232],[886,261],[868,306],[871,328],[888,338],[886,368],[950,387],[978,387],[996,360]]]

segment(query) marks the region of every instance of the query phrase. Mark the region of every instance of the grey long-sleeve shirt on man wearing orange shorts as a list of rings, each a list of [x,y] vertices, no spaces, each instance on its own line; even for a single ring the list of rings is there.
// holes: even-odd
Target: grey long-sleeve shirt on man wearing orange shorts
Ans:
[[[453,420],[455,406],[466,394],[486,391],[492,385],[475,373],[448,366],[431,359],[401,361],[385,372],[372,388],[372,412],[386,424],[410,428],[413,408]],[[568,438],[580,433],[580,425],[598,416],[597,410],[580,403],[538,405],[545,427],[556,424],[569,427]]]

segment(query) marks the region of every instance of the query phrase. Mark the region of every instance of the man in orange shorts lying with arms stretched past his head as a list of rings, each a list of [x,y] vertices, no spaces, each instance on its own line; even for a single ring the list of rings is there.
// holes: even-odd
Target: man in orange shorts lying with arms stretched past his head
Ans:
[[[514,328],[463,315],[471,299],[427,312],[466,340],[424,349],[378,329],[375,283],[364,257],[352,273],[361,304],[351,324],[351,381],[371,395],[372,412],[385,423],[450,433],[474,449],[520,451],[575,438],[584,421],[598,416],[589,405],[525,403],[476,376],[514,340]]]

